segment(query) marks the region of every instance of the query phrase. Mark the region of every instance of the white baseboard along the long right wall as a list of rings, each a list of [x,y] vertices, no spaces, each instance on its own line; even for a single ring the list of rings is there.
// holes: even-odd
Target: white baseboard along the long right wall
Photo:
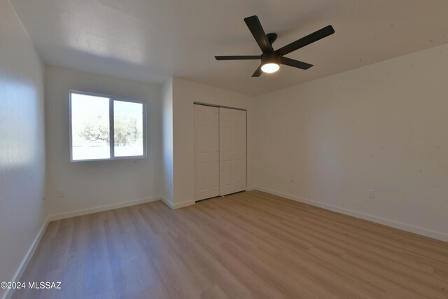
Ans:
[[[448,235],[443,233],[443,232],[436,232],[434,230],[428,230],[426,228],[419,228],[417,226],[414,225],[410,225],[407,223],[401,223],[398,221],[393,221],[390,219],[386,219],[386,218],[381,218],[378,216],[373,216],[373,215],[369,215],[369,214],[364,214],[358,211],[353,211],[351,209],[344,209],[341,207],[336,207],[333,206],[331,204],[325,204],[324,202],[318,202],[316,200],[309,200],[307,198],[304,197],[299,197],[299,196],[295,196],[295,195],[290,195],[287,193],[281,193],[279,191],[276,190],[270,190],[267,188],[262,188],[262,187],[255,187],[255,190],[259,190],[265,193],[269,193],[272,195],[276,195],[276,196],[280,196],[280,197],[284,197],[287,198],[288,200],[294,200],[296,202],[302,202],[304,204],[310,204],[311,206],[314,207],[321,207],[323,209],[328,209],[330,211],[335,211],[337,213],[341,213],[341,214],[345,214],[345,215],[349,215],[349,216],[353,216],[356,218],[361,218],[367,221],[372,221],[374,223],[379,223],[379,224],[383,224],[383,225],[387,225],[390,226],[392,228],[398,228],[399,230],[405,230],[407,232],[414,232],[415,234],[418,235],[423,235],[425,237],[430,237],[433,239],[439,239],[441,241],[444,242],[448,242]]]

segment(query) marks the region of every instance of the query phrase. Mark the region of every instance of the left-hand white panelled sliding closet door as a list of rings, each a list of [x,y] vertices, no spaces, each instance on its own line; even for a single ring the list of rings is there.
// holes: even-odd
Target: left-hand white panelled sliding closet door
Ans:
[[[219,108],[195,105],[195,200],[219,195]]]

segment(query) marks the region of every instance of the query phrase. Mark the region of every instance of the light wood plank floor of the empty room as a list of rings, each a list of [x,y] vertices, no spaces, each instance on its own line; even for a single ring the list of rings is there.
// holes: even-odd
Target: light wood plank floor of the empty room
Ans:
[[[448,243],[259,191],[48,225],[13,298],[448,298]]]

